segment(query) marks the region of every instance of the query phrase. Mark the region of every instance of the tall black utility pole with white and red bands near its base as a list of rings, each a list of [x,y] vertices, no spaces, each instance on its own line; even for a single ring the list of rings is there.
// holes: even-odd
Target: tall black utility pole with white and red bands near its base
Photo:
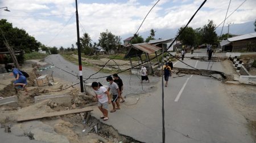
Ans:
[[[79,35],[79,16],[77,10],[77,0],[76,0],[76,31],[77,31],[77,51],[79,54],[79,76],[80,76],[80,88],[81,93],[84,92],[84,84],[82,83],[82,60],[81,60],[81,47],[80,47],[80,35]]]

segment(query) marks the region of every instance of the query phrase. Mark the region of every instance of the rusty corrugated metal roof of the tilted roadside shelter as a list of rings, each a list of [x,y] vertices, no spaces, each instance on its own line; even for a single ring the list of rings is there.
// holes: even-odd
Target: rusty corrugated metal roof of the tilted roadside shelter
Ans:
[[[139,50],[142,50],[144,53],[148,53],[148,54],[154,53],[155,51],[162,49],[158,46],[154,46],[150,44],[132,44],[131,46]]]

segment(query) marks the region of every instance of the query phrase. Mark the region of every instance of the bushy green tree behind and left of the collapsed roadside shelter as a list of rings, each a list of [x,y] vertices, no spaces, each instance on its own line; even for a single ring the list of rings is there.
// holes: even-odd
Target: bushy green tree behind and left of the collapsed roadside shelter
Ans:
[[[100,33],[98,45],[108,52],[110,50],[117,50],[118,45],[121,45],[121,38],[120,36],[115,36],[106,29],[106,32]]]

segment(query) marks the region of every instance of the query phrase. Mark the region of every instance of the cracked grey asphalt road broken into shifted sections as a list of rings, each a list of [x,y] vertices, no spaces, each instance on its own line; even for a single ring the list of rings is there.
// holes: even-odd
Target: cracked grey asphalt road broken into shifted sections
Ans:
[[[78,71],[77,65],[67,62],[60,55],[50,55],[46,62],[69,72]],[[209,63],[189,59],[184,62],[203,70],[207,69]],[[187,68],[180,62],[174,67]],[[213,64],[212,70],[223,72],[218,63]],[[79,82],[74,76],[57,68],[53,71],[53,75],[69,82]],[[86,77],[94,71],[83,68],[83,73]],[[108,74],[99,73],[96,77],[105,75]],[[136,75],[132,75],[131,80],[130,75],[119,76],[125,84],[124,94],[144,93]],[[122,105],[121,110],[110,113],[105,123],[135,140],[162,142],[161,82],[158,82],[159,77],[150,76],[150,80],[151,83],[143,84],[147,93],[141,94],[137,104]],[[106,83],[105,79],[98,81]],[[164,87],[164,95],[167,142],[253,142],[246,128],[246,119],[229,105],[220,81],[199,75],[185,75],[175,79],[171,77],[168,86]],[[96,118],[100,116],[97,107],[92,115]]]

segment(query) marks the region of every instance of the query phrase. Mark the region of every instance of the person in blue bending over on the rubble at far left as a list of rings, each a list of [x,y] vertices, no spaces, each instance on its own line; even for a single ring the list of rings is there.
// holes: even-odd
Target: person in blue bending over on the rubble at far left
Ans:
[[[13,73],[11,73],[11,75],[14,75],[15,77],[15,81],[14,81],[14,86],[16,89],[24,89],[26,91],[26,94],[28,94],[27,91],[27,78],[23,75],[22,72],[20,72],[20,70],[18,68],[15,68],[14,66],[11,67],[11,70],[13,71]]]

